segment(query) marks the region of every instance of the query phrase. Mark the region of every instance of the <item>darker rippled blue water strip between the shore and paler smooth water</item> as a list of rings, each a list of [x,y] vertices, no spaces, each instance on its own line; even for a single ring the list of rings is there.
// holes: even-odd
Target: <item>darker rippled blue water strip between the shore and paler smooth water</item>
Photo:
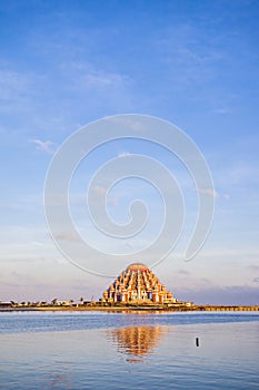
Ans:
[[[1,312],[0,334],[243,321],[259,321],[259,312]]]

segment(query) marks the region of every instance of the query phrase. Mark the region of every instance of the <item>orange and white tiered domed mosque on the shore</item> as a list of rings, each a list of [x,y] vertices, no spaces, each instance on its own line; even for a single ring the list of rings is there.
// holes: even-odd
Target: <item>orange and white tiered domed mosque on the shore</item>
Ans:
[[[103,292],[102,302],[109,303],[176,303],[170,291],[142,263],[130,264]]]

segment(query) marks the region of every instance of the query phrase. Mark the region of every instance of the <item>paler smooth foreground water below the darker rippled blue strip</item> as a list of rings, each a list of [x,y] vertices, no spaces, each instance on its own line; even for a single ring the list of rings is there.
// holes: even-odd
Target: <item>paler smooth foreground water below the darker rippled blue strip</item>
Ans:
[[[0,334],[0,383],[4,390],[252,389],[258,337],[259,321]]]

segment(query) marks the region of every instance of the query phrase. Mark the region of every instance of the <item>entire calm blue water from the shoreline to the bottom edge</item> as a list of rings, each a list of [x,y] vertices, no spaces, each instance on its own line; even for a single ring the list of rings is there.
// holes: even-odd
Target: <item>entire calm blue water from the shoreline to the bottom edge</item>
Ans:
[[[259,389],[259,313],[0,313],[0,388]]]

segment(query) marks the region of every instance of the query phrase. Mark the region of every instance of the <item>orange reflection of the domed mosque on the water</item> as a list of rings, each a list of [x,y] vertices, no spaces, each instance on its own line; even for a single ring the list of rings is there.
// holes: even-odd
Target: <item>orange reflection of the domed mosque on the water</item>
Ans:
[[[158,345],[166,326],[133,326],[118,328],[108,331],[108,339],[117,345],[119,353],[127,357],[127,361],[141,362]]]

